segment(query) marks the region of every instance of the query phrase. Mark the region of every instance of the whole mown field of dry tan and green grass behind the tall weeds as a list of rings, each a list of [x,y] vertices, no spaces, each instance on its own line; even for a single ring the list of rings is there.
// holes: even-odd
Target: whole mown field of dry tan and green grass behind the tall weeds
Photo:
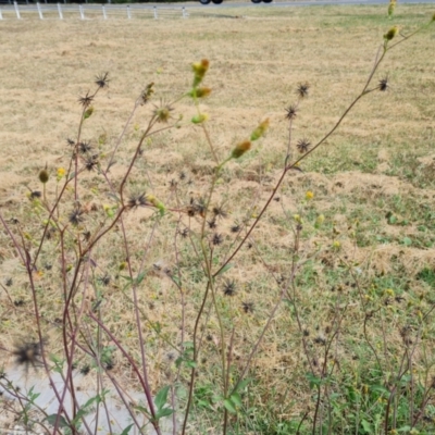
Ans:
[[[286,109],[297,102],[297,87],[309,84],[291,126],[294,160],[296,144],[319,141],[359,95],[388,28],[395,24],[408,35],[433,12],[432,5],[400,5],[389,21],[384,7],[246,8],[187,20],[0,22],[0,213],[8,223],[0,232],[0,369],[8,373],[20,343],[38,339],[35,299],[45,352],[64,358],[63,291],[74,286],[78,246],[87,232],[110,225],[120,210],[114,192],[150,116],[171,104],[169,122],[178,120],[177,127],[145,139],[125,187],[127,198],[152,194],[165,214],[152,207],[124,213],[87,253],[91,266],[80,265],[72,310],[82,322],[77,371],[90,368],[87,376],[97,376],[96,358],[85,349],[99,347],[111,376],[140,388],[132,364],[86,313],[101,301],[95,312],[140,365],[128,271],[146,273],[136,307],[151,390],[176,385],[183,411],[191,369],[184,364],[191,359],[186,344],[207,288],[204,264],[216,272],[225,263],[279,179],[289,141]],[[232,268],[215,277],[199,322],[187,433],[222,433],[222,389],[237,383],[263,333],[241,402],[236,413],[229,410],[228,433],[434,433],[434,42],[430,27],[387,53],[371,86],[387,78],[387,91],[362,98],[301,171],[288,172]],[[221,171],[204,227],[203,213],[187,211],[208,197],[215,162],[201,126],[190,122],[191,99],[172,104],[190,90],[191,63],[201,59],[210,61],[204,84],[212,94],[200,110],[210,116],[220,161],[270,120],[265,137]],[[77,138],[78,99],[104,72],[109,87],[98,92],[80,136],[98,165],[80,173],[77,198],[72,184],[62,197],[32,291],[8,231],[36,254],[47,209],[65,181],[57,174],[69,167],[74,148],[66,139]],[[103,175],[151,82],[152,100],[133,115]],[[38,174],[46,165],[46,199],[32,198],[42,191]],[[77,207],[83,215],[74,226]]]

